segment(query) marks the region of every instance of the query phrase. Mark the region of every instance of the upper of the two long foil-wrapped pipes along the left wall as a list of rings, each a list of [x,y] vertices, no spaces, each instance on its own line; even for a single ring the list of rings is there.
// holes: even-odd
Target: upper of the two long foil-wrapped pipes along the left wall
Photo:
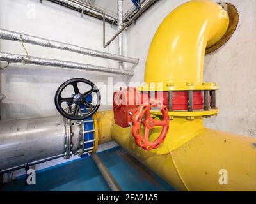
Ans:
[[[105,32],[105,31],[104,31]],[[112,59],[116,61],[128,62],[132,64],[138,64],[139,59],[131,58],[131,57],[124,57],[122,55],[111,54],[108,52],[101,52],[97,50],[92,50],[89,48],[79,47],[77,45],[72,45],[68,43],[63,43],[60,41],[48,40],[45,38],[40,38],[36,36],[31,36],[24,33],[17,33],[14,31],[8,31],[5,29],[0,29],[0,38],[4,40],[12,40],[12,41],[22,41],[24,43],[29,43],[33,45],[39,45],[42,47],[51,47],[60,50],[67,50],[70,52],[76,52],[83,55],[89,55],[93,57],[102,57],[106,59]]]

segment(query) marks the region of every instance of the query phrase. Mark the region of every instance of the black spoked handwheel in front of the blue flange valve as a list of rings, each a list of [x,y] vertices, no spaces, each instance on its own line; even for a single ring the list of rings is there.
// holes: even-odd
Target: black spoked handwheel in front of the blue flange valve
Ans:
[[[77,84],[80,82],[90,85],[90,90],[81,93],[77,86]],[[74,94],[72,94],[72,97],[63,98],[61,97],[61,93],[68,85],[72,85],[74,89]],[[93,105],[92,103],[90,103],[90,101],[86,101],[86,98],[93,93],[97,95],[96,105]],[[100,91],[95,84],[84,78],[72,78],[60,85],[60,87],[56,91],[54,102],[58,112],[67,119],[84,120],[97,112],[100,106],[100,99]],[[67,110],[65,111],[62,108],[61,103],[67,103],[67,105],[70,107],[69,112]],[[73,104],[74,108],[72,109]],[[83,114],[81,113],[81,106],[86,107],[86,112]]]

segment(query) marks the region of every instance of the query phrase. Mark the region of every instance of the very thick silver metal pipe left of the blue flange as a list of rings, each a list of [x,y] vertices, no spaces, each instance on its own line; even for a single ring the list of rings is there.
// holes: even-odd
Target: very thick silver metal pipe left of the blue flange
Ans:
[[[63,154],[64,127],[62,116],[1,120],[0,170]]]

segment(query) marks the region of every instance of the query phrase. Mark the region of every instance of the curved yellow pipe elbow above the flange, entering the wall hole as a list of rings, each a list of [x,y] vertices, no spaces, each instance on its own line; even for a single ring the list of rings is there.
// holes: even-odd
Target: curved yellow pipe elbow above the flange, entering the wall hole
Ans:
[[[202,83],[205,48],[221,39],[228,24],[227,12],[209,0],[188,1],[175,8],[154,35],[145,82]]]

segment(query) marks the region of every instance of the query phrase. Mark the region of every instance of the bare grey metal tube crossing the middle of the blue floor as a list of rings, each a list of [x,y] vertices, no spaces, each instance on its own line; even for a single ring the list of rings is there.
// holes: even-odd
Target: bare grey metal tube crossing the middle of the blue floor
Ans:
[[[108,168],[102,163],[99,156],[96,153],[91,154],[93,161],[97,165],[100,173],[102,174],[103,178],[106,180],[108,186],[112,191],[122,191],[122,188],[119,186],[118,182],[116,182],[113,175],[109,172]]]

